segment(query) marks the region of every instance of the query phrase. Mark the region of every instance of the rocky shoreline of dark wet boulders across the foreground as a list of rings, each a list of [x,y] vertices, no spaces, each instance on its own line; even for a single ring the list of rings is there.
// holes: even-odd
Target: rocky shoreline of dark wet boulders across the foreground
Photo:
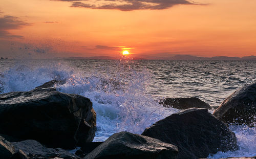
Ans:
[[[119,132],[93,143],[96,112],[90,99],[58,92],[49,81],[29,92],[0,94],[0,158],[206,158],[235,151],[236,135],[227,124],[254,127],[256,83],[223,101],[213,115],[198,98],[167,98],[165,107],[184,109],[146,128]],[[67,151],[81,147],[75,154]],[[243,157],[237,157],[243,158]],[[244,157],[246,158],[246,157]],[[250,157],[250,158],[256,158]]]

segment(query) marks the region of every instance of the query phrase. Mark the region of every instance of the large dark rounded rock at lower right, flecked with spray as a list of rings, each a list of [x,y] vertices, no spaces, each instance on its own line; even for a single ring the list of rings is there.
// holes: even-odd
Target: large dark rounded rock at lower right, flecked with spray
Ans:
[[[207,109],[175,113],[146,128],[142,135],[178,146],[177,158],[207,157],[238,148],[236,135]]]

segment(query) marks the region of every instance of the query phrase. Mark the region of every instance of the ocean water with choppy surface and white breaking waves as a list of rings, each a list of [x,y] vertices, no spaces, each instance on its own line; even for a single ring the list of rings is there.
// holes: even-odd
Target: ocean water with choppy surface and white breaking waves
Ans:
[[[91,99],[97,113],[94,141],[104,141],[124,130],[140,134],[180,111],[159,105],[162,98],[198,97],[219,106],[239,87],[256,82],[256,61],[0,60],[2,93],[31,90],[52,79],[67,81],[57,86],[60,92]],[[256,128],[229,128],[240,149],[209,158],[256,155]]]

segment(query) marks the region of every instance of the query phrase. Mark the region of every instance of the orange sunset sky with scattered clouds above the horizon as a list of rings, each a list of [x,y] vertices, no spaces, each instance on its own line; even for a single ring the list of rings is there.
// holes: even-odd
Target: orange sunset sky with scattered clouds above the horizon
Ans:
[[[256,55],[256,0],[1,0],[0,56]]]

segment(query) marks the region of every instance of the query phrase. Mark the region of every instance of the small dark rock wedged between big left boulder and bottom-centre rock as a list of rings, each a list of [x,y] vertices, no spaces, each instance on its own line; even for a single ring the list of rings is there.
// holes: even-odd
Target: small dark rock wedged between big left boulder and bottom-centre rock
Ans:
[[[102,143],[103,142],[84,143],[82,147],[76,151],[75,154],[82,158],[86,156],[88,153],[92,152],[96,147],[98,147]]]

